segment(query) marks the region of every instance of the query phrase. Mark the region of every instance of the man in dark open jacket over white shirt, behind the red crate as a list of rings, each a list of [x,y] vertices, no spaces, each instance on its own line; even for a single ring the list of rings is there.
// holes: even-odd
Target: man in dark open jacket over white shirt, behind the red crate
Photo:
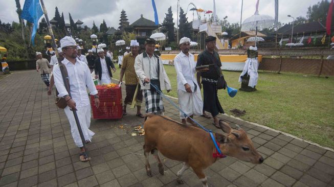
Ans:
[[[112,63],[112,60],[110,60],[109,57],[104,56],[102,48],[98,48],[97,52],[99,58],[95,60],[95,78],[98,79],[100,85],[112,83],[111,78],[113,77],[113,74],[110,69],[113,68],[114,73],[116,72],[114,63]]]

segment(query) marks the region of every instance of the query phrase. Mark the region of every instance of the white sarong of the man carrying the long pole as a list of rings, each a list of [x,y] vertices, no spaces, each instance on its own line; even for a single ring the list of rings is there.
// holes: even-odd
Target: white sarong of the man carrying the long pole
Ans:
[[[73,111],[70,110],[69,106],[66,106],[64,112],[69,119],[71,125],[72,137],[74,139],[75,145],[78,147],[82,147],[83,144],[81,141],[77,124],[74,119]],[[91,105],[77,107],[77,114],[85,141],[91,141],[93,135],[95,134],[93,131],[89,129],[91,126]]]

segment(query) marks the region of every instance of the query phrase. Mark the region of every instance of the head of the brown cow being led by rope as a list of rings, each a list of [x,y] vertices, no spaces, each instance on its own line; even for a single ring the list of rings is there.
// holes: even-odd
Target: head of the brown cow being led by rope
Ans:
[[[262,163],[263,157],[254,148],[253,142],[246,132],[240,127],[232,129],[230,125],[222,120],[219,126],[225,135],[216,133],[216,139],[220,143],[220,150],[228,155],[243,161]]]

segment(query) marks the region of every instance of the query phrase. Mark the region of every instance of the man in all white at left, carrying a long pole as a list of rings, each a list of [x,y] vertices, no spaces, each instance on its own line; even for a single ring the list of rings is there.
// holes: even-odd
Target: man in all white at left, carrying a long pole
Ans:
[[[85,149],[80,138],[80,134],[75,122],[72,110],[76,110],[80,126],[86,143],[91,142],[94,132],[91,131],[91,105],[88,98],[86,86],[91,91],[91,95],[95,97],[95,106],[99,107],[100,101],[97,95],[97,90],[91,77],[91,72],[85,62],[77,59],[77,44],[72,37],[65,36],[60,40],[61,49],[65,55],[62,64],[66,67],[69,75],[71,97],[64,86],[64,81],[61,76],[60,67],[55,64],[53,68],[53,76],[58,97],[63,97],[68,106],[64,108],[64,112],[69,119],[71,125],[72,137],[76,146],[80,148],[80,161],[89,161],[91,158],[85,154]]]

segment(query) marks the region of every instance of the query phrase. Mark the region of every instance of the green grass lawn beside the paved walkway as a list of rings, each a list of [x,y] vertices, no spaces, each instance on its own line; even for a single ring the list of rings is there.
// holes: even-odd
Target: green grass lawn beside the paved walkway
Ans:
[[[177,98],[174,66],[165,65],[172,91]],[[119,78],[117,69],[114,78]],[[223,71],[230,87],[239,89],[240,72]],[[227,114],[231,109],[246,110],[240,118],[286,133],[322,146],[334,148],[334,77],[259,72],[255,92],[238,91],[230,98],[226,90],[218,90],[221,106]],[[167,92],[165,92],[167,93]]]

